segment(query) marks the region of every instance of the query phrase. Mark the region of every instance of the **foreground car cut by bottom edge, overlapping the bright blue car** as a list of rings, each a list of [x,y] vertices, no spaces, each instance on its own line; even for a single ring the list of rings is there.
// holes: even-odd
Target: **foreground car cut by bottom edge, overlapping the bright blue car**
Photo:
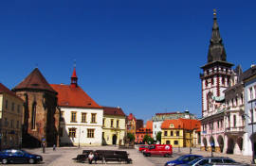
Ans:
[[[191,166],[197,166],[197,165],[207,165],[210,163],[237,163],[235,160],[231,158],[223,158],[223,157],[210,157],[210,158],[195,158],[191,162],[187,164],[181,164],[181,165],[191,165]]]

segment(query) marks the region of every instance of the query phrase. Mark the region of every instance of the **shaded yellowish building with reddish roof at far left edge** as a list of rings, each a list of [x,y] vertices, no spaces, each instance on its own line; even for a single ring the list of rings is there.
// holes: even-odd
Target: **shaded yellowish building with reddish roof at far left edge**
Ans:
[[[23,100],[0,83],[0,148],[22,143]]]

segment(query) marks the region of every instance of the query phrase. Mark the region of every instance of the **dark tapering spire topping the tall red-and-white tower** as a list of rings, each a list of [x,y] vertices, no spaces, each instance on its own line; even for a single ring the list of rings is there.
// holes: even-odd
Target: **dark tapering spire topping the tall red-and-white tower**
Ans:
[[[226,51],[220,36],[219,25],[217,23],[216,9],[213,9],[213,25],[210,38],[210,46],[208,53],[208,62],[226,61]]]

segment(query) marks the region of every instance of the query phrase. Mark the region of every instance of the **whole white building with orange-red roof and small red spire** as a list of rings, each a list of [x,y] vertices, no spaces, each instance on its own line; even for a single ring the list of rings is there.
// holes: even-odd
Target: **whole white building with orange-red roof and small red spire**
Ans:
[[[71,84],[51,84],[58,92],[60,145],[101,145],[103,108],[77,84],[74,68]]]

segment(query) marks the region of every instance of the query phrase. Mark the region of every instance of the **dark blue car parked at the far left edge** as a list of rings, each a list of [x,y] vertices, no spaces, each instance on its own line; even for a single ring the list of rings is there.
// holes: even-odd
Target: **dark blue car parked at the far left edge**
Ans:
[[[7,163],[38,163],[43,161],[40,155],[30,154],[24,150],[7,149],[0,152],[0,160],[3,164]]]

